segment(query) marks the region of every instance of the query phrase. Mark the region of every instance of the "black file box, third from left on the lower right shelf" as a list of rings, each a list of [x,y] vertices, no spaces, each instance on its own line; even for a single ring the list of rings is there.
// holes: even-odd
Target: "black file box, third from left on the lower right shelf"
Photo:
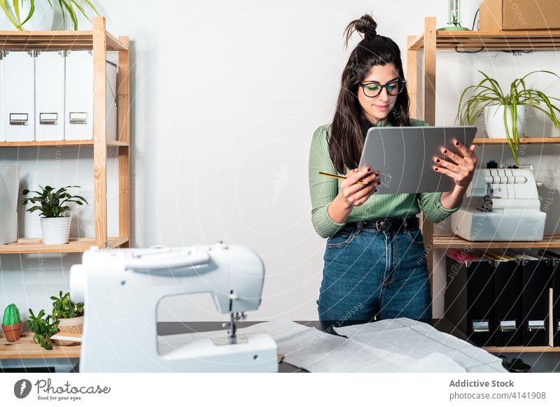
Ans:
[[[524,346],[549,344],[549,288],[552,287],[551,260],[521,260],[521,308],[523,312],[522,340]]]

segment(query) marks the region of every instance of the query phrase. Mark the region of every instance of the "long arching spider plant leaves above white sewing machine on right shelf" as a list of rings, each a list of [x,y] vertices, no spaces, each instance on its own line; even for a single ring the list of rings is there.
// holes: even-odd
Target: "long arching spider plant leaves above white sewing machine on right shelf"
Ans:
[[[490,78],[486,73],[479,71],[484,76],[477,85],[467,87],[461,99],[457,110],[456,120],[461,124],[469,124],[472,126],[479,115],[484,111],[486,106],[503,105],[503,121],[505,126],[505,135],[507,142],[510,145],[515,164],[519,165],[517,161],[517,149],[519,148],[519,134],[517,134],[517,106],[527,105],[533,106],[545,113],[547,117],[552,120],[554,127],[560,129],[560,121],[557,113],[560,109],[554,105],[552,101],[559,101],[555,97],[547,96],[544,92],[538,90],[527,89],[525,80],[533,73],[548,73],[560,79],[560,76],[551,71],[533,71],[529,72],[523,78],[515,79],[511,85],[509,93],[505,93],[497,80]],[[474,93],[470,97],[466,97],[469,90]],[[511,111],[512,114],[512,128],[507,126],[507,112]]]

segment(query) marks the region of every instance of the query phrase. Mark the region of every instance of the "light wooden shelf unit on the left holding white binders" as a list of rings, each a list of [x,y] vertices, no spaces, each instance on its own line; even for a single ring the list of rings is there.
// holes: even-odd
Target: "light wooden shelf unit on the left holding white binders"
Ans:
[[[92,50],[93,139],[79,141],[0,142],[3,148],[81,147],[93,148],[94,238],[74,238],[68,245],[43,245],[39,239],[20,239],[0,245],[1,253],[83,252],[89,245],[130,245],[130,54],[128,36],[118,38],[106,31],[105,17],[93,17],[91,31],[0,31],[0,50]],[[118,140],[106,138],[106,53],[118,52]],[[118,238],[107,236],[107,147],[118,148]],[[87,247],[86,247],[87,246]]]

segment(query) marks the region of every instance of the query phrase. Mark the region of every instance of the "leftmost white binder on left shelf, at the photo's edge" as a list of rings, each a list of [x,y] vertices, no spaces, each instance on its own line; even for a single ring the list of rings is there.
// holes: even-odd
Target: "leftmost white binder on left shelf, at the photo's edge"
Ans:
[[[6,141],[35,139],[35,63],[33,52],[8,51],[2,57],[0,94]]]

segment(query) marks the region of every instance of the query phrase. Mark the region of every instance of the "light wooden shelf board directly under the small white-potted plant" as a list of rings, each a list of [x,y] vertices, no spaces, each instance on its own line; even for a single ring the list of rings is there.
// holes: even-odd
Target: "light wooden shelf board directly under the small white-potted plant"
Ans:
[[[109,238],[109,247],[118,248],[126,243],[128,237]],[[70,238],[65,245],[43,245],[40,238],[22,238],[16,243],[0,245],[0,255],[3,254],[29,254],[29,253],[80,253],[85,252],[90,246],[95,245],[94,238]]]

